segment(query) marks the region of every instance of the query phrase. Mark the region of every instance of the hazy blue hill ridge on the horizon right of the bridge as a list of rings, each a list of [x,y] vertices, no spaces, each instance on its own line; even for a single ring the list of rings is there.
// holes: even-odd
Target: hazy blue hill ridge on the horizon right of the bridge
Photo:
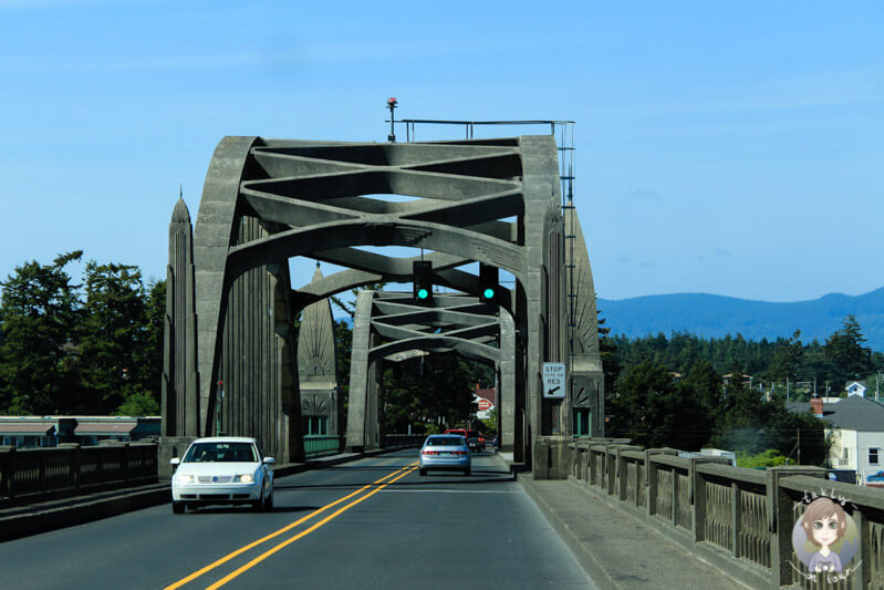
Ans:
[[[738,333],[747,340],[789,338],[825,342],[849,313],[856,315],[872,350],[884,351],[884,288],[861,296],[830,293],[811,301],[769,303],[704,293],[600,299],[599,311],[613,334],[627,338],[688,332],[703,338]]]

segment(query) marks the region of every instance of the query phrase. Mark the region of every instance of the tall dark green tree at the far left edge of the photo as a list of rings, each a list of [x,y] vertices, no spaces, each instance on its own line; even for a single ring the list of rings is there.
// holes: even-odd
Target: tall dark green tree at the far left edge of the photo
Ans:
[[[0,283],[0,411],[63,412],[76,397],[80,300],[64,267],[82,255],[25,262]]]

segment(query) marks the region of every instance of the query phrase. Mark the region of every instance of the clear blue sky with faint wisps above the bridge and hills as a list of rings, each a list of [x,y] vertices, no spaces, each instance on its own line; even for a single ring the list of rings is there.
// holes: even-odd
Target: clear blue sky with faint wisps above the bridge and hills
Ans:
[[[0,0],[0,279],[75,249],[165,278],[178,186],[196,218],[222,136],[385,141],[396,96],[576,121],[602,298],[867,292],[882,30],[880,1]]]

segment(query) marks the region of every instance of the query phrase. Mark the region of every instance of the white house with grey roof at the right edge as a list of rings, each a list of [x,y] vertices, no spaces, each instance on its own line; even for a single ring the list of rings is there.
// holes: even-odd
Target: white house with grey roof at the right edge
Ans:
[[[862,395],[839,398],[825,403],[822,398],[810,403],[787,404],[791,412],[807,412],[826,423],[825,436],[832,446],[826,466],[834,469],[851,469],[862,485],[884,487],[884,480],[875,482],[876,474],[884,470],[884,405]],[[884,475],[877,476],[884,479]]]

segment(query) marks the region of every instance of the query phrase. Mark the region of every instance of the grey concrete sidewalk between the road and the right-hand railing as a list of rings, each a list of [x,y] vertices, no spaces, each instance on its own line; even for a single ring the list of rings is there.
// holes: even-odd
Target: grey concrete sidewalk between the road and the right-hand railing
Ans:
[[[600,589],[746,588],[572,482],[517,478]]]

